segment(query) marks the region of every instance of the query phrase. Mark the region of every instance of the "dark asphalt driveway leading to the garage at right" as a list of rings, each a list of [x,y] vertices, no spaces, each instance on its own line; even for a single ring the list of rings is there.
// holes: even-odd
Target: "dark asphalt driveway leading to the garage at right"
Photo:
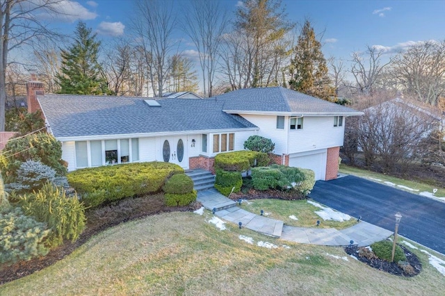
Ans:
[[[445,204],[356,176],[317,181],[309,195],[316,202],[394,231],[445,254]]]

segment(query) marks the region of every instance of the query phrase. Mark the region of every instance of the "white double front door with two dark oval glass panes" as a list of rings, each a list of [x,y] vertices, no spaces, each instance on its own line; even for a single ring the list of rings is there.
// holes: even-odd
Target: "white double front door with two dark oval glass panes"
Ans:
[[[164,138],[162,145],[162,158],[166,163],[176,163],[188,169],[187,142],[183,137]]]

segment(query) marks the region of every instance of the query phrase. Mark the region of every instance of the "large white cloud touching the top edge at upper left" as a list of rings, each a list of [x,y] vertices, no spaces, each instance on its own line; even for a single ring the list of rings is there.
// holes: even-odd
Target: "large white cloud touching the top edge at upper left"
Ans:
[[[38,1],[35,3],[38,3]],[[70,0],[51,3],[51,10],[52,11],[41,10],[41,13],[38,13],[36,16],[39,19],[50,19],[59,22],[76,22],[78,20],[95,19],[97,17],[97,13],[92,13],[79,2]]]

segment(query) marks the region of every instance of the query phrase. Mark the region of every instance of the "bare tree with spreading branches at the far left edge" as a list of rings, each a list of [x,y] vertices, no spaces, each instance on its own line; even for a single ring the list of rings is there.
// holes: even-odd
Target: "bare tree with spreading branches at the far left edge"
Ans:
[[[10,51],[30,45],[36,38],[51,36],[38,15],[57,13],[60,0],[3,0],[0,6],[0,131],[5,130],[6,67]]]

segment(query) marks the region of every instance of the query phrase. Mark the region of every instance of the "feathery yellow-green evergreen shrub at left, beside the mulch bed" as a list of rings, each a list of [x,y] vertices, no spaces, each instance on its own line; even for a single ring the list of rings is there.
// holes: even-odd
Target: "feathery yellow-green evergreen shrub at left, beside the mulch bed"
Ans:
[[[38,192],[20,196],[19,204],[26,215],[48,224],[49,247],[61,245],[64,239],[74,242],[85,228],[85,208],[77,196],[67,197],[65,190],[50,183]]]

